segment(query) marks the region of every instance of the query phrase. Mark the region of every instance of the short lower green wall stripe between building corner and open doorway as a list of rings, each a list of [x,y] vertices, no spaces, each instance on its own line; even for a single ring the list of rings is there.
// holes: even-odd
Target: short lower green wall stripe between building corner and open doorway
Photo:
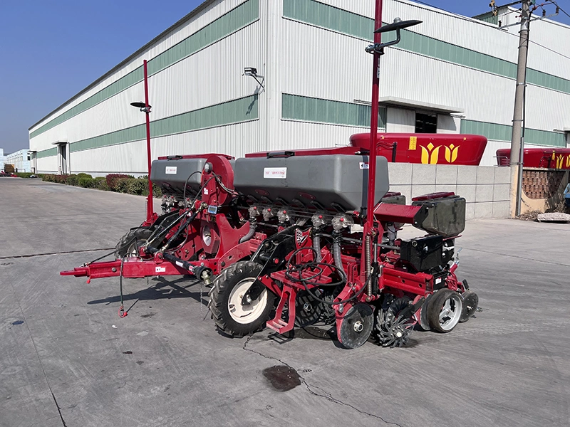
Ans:
[[[371,112],[372,107],[370,105],[286,93],[281,97],[281,117],[289,120],[370,127]],[[380,107],[378,110],[378,127],[385,128],[385,123],[386,109]]]

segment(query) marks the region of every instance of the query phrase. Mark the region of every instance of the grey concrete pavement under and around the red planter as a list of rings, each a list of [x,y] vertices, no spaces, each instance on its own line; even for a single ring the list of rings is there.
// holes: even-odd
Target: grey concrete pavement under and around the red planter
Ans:
[[[0,194],[1,427],[570,424],[570,225],[467,223],[458,273],[483,311],[345,350],[314,330],[223,337],[181,278],[125,280],[120,319],[117,278],[59,271],[115,246],[145,199],[38,179]],[[276,391],[275,365],[301,384]]]

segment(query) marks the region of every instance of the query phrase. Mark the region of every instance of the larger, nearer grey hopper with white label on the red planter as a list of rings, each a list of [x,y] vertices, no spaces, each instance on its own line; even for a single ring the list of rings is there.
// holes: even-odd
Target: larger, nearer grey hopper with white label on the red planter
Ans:
[[[388,191],[388,163],[377,157],[375,202]],[[368,156],[251,157],[237,159],[234,187],[257,200],[285,201],[306,206],[317,202],[326,209],[340,205],[347,211],[366,208]],[[313,203],[315,206],[316,204]]]

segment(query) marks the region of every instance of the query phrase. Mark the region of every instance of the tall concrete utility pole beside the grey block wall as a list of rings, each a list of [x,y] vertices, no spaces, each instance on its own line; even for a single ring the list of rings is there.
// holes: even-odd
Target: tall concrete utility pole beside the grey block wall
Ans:
[[[521,214],[522,162],[524,150],[524,92],[527,86],[527,53],[529,51],[529,0],[522,1],[521,30],[519,32],[519,61],[517,90],[514,93],[514,114],[511,138],[511,216]]]

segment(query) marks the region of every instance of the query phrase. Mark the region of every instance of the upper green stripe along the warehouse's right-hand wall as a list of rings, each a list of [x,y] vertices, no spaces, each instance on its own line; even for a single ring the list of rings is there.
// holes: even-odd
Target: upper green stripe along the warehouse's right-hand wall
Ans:
[[[286,18],[347,34],[348,36],[362,38],[366,41],[371,41],[374,31],[373,19],[314,0],[284,0],[283,14]],[[507,60],[472,51],[471,49],[409,30],[401,31],[401,36],[401,41],[397,47],[405,51],[419,53],[420,55],[502,75],[507,78],[517,77],[517,64]],[[543,88],[570,93],[570,80],[532,68],[527,69],[527,82]]]

